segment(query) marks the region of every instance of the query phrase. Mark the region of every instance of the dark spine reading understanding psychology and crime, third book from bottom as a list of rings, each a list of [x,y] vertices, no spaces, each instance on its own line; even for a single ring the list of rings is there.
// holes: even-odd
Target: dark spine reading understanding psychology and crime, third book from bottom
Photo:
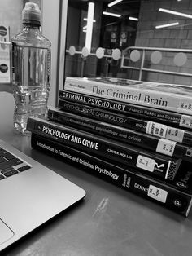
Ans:
[[[72,113],[49,109],[48,117],[52,121],[66,126],[72,126],[80,130],[93,132],[96,135],[122,141],[152,152],[159,152],[166,156],[182,158],[192,162],[192,148],[169,139],[159,139],[151,135],[145,135],[134,130],[123,129],[120,126],[112,126],[109,123],[97,121],[91,118],[77,116]]]

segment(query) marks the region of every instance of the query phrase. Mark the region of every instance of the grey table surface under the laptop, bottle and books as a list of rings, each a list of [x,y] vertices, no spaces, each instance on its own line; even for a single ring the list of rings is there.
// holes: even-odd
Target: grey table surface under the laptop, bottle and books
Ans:
[[[12,104],[11,95],[7,104]],[[1,102],[1,101],[0,101]],[[0,108],[0,138],[87,192],[85,199],[24,237],[7,256],[190,256],[188,218],[30,147],[15,135],[12,109]]]

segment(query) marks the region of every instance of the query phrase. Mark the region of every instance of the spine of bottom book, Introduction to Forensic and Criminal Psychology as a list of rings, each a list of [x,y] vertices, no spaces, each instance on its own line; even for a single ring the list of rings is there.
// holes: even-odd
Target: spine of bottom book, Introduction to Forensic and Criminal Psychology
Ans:
[[[35,134],[32,134],[31,144],[33,148],[41,152],[46,152],[52,157],[59,157],[60,160],[80,167],[82,170],[98,176],[99,179],[113,183],[118,188],[133,192],[149,201],[154,201],[185,217],[190,212],[191,196],[166,183],[159,183],[134,171],[113,166],[97,157]]]

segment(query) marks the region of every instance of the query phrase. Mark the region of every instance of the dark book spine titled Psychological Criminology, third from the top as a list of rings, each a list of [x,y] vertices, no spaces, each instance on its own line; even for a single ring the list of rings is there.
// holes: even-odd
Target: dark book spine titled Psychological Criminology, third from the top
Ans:
[[[120,113],[112,113],[105,109],[103,110],[95,108],[94,106],[79,104],[62,99],[59,99],[58,107],[68,113],[75,113],[84,117],[94,118],[98,121],[105,121],[112,125],[137,130],[144,134],[170,139],[187,145],[192,143],[192,133],[190,131],[166,126],[159,122],[126,117]]]

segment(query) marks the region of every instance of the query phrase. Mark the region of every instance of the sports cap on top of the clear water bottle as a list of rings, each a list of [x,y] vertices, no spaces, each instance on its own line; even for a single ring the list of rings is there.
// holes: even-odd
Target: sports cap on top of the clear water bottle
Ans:
[[[34,2],[26,2],[22,11],[23,24],[41,25],[41,11]]]

